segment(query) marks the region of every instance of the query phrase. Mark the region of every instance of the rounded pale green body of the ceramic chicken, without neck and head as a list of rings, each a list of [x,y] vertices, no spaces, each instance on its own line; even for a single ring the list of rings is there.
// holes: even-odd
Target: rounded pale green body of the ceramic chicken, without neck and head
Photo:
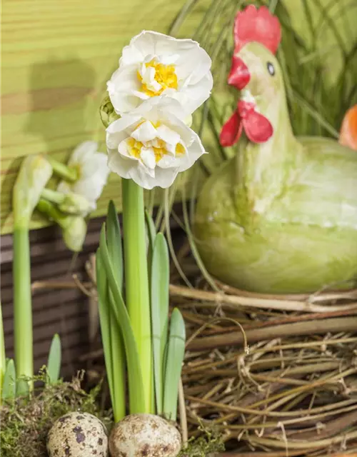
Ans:
[[[221,281],[306,293],[357,277],[357,152],[322,138],[291,147],[291,163],[264,170],[249,144],[203,186],[196,241]]]

